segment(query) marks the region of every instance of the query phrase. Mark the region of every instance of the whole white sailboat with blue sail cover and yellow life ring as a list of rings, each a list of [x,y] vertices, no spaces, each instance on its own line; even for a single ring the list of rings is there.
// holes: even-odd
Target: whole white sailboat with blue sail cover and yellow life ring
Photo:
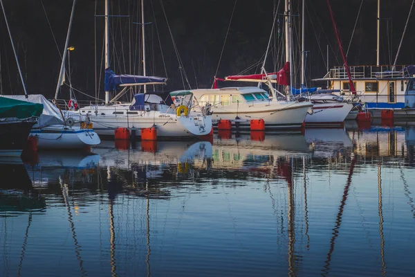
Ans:
[[[130,130],[156,127],[158,138],[178,139],[191,138],[209,134],[212,129],[212,119],[208,113],[201,111],[189,112],[192,101],[187,105],[172,107],[163,104],[160,96],[149,95],[148,84],[165,84],[166,78],[145,75],[145,40],[144,40],[144,4],[142,8],[142,55],[144,75],[116,75],[110,69],[109,60],[109,0],[105,1],[105,105],[89,105],[82,107],[76,113],[70,114],[76,121],[87,117],[93,123],[95,132],[104,136],[114,136],[118,127]],[[143,86],[144,93],[136,94],[131,102],[118,102],[129,88]],[[122,89],[114,98],[109,100],[110,92]],[[151,96],[151,97],[150,97]],[[140,132],[136,133],[140,136]]]

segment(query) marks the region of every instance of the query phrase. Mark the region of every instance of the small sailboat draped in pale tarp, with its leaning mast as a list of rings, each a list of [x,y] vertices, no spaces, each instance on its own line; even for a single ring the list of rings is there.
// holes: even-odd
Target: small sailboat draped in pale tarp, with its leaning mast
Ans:
[[[71,21],[69,23],[68,34],[66,36],[66,48],[68,46],[69,33],[71,33],[71,25],[73,20],[73,12],[75,10],[76,0],[73,1],[71,12]],[[65,49],[66,49],[65,48]],[[64,51],[66,53],[66,51]],[[65,57],[62,58],[61,78],[65,64]],[[57,84],[59,91],[60,78]],[[38,122],[33,125],[30,135],[37,137],[37,148],[39,149],[84,149],[92,145],[100,144],[100,137],[93,129],[80,126],[73,126],[71,118],[65,118],[62,111],[47,100],[42,94],[30,94],[29,96],[4,95],[5,98],[15,100],[26,100],[32,103],[43,105],[42,114],[39,114]]]

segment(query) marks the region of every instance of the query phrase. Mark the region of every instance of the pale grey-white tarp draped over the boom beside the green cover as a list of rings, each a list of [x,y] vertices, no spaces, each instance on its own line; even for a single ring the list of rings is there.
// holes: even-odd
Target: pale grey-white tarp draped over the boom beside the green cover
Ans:
[[[3,97],[26,101],[26,96],[24,95],[3,95]],[[52,102],[42,96],[42,94],[29,94],[28,101],[44,105],[44,110],[40,115],[39,122],[34,125],[33,128],[64,124],[59,109],[53,105]]]

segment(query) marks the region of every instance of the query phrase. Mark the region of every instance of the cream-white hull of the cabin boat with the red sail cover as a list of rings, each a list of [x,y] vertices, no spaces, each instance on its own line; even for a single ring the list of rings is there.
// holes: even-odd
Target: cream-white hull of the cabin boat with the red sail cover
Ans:
[[[221,106],[212,107],[212,120],[235,120],[240,118],[239,127],[250,128],[251,119],[264,119],[266,129],[299,128],[310,109],[310,102],[273,102],[270,105],[252,105],[239,109],[238,112],[227,111]],[[234,122],[232,122],[234,124]]]

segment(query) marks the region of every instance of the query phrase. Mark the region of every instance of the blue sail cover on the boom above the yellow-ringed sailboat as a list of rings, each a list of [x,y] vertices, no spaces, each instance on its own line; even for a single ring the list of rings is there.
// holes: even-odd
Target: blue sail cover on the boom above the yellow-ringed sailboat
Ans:
[[[164,84],[167,78],[140,75],[116,75],[110,68],[105,69],[105,91],[114,91],[121,84]]]

